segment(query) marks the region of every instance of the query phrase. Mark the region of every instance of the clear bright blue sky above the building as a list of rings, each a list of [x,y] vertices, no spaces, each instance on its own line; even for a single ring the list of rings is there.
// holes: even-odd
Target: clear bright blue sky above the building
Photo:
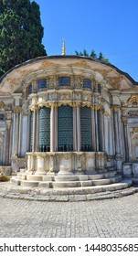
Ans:
[[[48,55],[94,49],[138,81],[138,0],[36,0]]]

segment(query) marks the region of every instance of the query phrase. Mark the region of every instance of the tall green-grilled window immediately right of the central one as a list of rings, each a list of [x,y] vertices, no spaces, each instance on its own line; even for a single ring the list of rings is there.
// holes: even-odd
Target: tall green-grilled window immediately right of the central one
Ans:
[[[91,151],[91,110],[88,107],[80,108],[81,150]]]

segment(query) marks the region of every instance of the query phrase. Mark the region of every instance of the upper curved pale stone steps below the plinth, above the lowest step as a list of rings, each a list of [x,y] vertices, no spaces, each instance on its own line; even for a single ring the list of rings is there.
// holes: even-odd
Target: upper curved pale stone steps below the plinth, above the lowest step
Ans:
[[[95,191],[113,191],[126,187],[131,187],[132,182],[123,180],[116,171],[103,171],[95,174],[74,174],[74,175],[32,175],[26,173],[17,173],[13,176],[10,183],[19,187],[44,188],[46,194],[52,190],[62,191],[62,194],[80,194],[95,193]]]

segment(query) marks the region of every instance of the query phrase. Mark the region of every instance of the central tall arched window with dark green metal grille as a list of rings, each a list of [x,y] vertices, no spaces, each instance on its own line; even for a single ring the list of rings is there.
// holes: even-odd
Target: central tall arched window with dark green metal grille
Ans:
[[[72,107],[58,108],[58,151],[73,150],[73,110]]]

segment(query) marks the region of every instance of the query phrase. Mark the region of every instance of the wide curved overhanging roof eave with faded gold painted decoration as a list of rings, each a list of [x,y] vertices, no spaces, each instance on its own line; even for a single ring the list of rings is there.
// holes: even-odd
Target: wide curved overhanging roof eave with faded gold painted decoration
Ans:
[[[127,73],[109,63],[89,57],[62,55],[38,57],[16,65],[1,77],[0,93],[13,93],[18,87],[26,84],[30,76],[35,80],[41,73],[48,76],[53,72],[55,75],[58,73],[87,75],[89,73],[91,78],[110,90],[128,91],[133,89],[134,85],[138,85],[138,82]]]

